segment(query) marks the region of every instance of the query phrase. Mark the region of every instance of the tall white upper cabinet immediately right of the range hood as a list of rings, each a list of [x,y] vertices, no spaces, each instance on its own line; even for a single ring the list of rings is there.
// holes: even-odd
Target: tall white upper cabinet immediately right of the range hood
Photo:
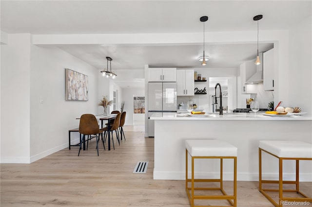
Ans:
[[[274,49],[263,53],[263,87],[274,90]]]

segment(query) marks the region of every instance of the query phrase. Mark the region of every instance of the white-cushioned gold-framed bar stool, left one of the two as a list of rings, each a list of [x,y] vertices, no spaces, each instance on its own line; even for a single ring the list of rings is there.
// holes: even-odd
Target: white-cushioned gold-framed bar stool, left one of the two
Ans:
[[[231,207],[236,207],[236,166],[237,148],[228,142],[215,139],[193,139],[185,140],[186,146],[186,178],[185,190],[189,197],[191,207],[194,207],[195,199],[215,199],[227,200]],[[192,157],[192,178],[188,178],[188,154]],[[195,159],[220,159],[220,178],[219,179],[195,179],[194,161]],[[233,195],[227,195],[223,190],[223,159],[234,160],[234,190]],[[191,187],[188,184],[191,182]],[[195,187],[195,182],[218,182],[220,188],[199,188]],[[222,195],[195,195],[195,190],[221,190]],[[191,192],[190,192],[191,191]],[[232,201],[233,200],[233,201]],[[210,206],[212,207],[212,206]]]

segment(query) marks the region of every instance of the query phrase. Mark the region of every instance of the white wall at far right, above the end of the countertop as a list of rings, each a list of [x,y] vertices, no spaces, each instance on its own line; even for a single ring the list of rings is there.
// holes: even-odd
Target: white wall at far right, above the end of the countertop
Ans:
[[[289,105],[312,115],[312,16],[289,31]]]

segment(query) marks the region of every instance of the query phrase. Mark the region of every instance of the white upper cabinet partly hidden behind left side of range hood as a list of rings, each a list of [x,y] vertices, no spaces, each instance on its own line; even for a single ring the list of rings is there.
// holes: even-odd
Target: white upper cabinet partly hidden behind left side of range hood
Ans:
[[[241,93],[250,94],[256,93],[256,85],[245,84],[246,81],[255,73],[256,65],[254,61],[248,61],[240,65],[240,76],[241,76]]]

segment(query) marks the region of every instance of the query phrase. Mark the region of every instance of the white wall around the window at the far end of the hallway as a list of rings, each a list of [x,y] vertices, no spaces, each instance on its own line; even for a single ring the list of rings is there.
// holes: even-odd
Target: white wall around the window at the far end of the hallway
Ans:
[[[133,117],[133,96],[134,95],[144,95],[144,88],[122,88],[122,101],[125,102],[124,111],[127,112],[125,125],[134,125]],[[146,97],[145,97],[146,98]],[[145,104],[146,107],[146,104]],[[146,108],[145,108],[145,111]]]

